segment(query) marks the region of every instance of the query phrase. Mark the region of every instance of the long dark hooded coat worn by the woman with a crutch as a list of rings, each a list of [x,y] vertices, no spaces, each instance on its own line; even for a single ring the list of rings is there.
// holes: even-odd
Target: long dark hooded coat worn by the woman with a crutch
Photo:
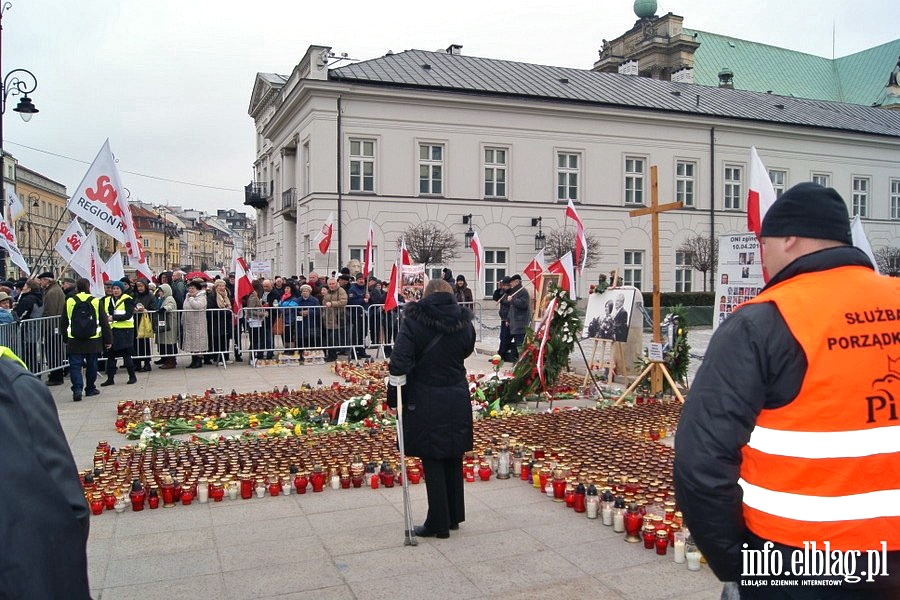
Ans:
[[[472,449],[465,359],[474,350],[472,312],[453,294],[438,292],[406,305],[390,371],[407,378],[403,439],[408,454],[443,460]]]

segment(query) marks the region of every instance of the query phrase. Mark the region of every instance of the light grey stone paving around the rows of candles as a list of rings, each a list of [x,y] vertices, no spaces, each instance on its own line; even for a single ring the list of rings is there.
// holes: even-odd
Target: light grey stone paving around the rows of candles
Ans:
[[[702,354],[708,333],[691,338]],[[485,335],[471,370],[487,370],[496,340]],[[135,385],[71,401],[50,388],[79,468],[98,440],[126,443],[116,402],[210,387],[240,392],[335,380],[327,367],[251,368],[246,362],[139,373]],[[573,366],[577,363],[573,362]],[[411,486],[415,522],[425,488]],[[225,500],[93,518],[88,541],[95,598],[657,598],[715,599],[721,584],[561,508],[516,479],[466,484],[467,520],[450,539],[403,545],[400,488],[327,490]]]

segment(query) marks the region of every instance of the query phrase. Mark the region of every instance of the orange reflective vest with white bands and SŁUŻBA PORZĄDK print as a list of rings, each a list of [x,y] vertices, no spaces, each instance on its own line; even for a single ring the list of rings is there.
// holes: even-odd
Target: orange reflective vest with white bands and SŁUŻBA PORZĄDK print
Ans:
[[[758,302],[775,303],[808,366],[741,450],[747,528],[794,547],[900,550],[900,279],[839,267]]]

